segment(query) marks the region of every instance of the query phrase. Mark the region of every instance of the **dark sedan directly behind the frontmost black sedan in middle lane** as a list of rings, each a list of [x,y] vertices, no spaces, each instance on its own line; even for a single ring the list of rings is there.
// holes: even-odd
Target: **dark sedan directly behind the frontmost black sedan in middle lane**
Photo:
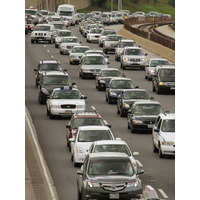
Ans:
[[[136,101],[150,101],[154,97],[149,97],[149,94],[144,89],[122,90],[117,98],[117,114],[121,117],[126,117],[128,110]]]

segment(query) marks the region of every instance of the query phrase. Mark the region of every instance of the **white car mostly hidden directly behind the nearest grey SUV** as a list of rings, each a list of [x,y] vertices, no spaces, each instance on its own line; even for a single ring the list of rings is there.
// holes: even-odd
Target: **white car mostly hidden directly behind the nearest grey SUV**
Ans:
[[[138,152],[132,153],[129,146],[125,141],[122,140],[101,140],[93,142],[90,146],[88,153],[97,153],[97,152],[120,152],[126,153],[133,163],[134,170],[137,172],[137,163],[134,156],[139,155]]]

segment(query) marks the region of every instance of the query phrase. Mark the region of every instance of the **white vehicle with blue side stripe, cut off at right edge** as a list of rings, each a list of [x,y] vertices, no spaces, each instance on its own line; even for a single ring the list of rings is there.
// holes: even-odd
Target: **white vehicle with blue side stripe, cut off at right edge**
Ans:
[[[175,114],[159,114],[152,129],[153,151],[159,151],[159,157],[175,155]]]

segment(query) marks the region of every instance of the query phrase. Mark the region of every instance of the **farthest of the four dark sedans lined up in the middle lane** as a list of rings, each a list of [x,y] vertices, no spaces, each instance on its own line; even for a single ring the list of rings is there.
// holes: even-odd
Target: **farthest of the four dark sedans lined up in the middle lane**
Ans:
[[[116,77],[125,77],[125,73],[121,73],[116,68],[102,69],[101,72],[96,75],[96,88],[98,90],[106,90],[106,86],[109,85],[110,80]]]

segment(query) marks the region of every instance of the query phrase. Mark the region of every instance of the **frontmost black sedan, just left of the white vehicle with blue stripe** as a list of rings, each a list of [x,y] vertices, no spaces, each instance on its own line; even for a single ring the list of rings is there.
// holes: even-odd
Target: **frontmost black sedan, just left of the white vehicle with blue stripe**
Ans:
[[[151,131],[155,120],[164,110],[157,101],[136,101],[127,114],[128,129],[136,131]]]

